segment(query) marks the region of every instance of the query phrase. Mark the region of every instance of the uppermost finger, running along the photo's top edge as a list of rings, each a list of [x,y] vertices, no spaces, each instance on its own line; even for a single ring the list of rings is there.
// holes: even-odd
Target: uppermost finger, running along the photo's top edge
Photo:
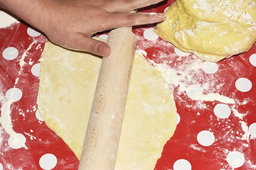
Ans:
[[[105,9],[108,12],[130,12],[134,9],[143,8],[159,3],[163,0],[109,0]]]

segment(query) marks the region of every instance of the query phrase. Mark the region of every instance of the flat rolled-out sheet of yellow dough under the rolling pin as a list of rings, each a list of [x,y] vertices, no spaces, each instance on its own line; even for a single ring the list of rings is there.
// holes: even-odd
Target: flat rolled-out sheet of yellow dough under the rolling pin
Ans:
[[[39,113],[80,159],[101,58],[47,42],[40,61]],[[176,121],[169,86],[136,54],[115,170],[153,170]]]

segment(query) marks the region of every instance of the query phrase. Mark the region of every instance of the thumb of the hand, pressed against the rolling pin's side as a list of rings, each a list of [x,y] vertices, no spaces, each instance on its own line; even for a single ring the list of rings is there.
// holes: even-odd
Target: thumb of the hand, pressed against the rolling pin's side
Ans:
[[[111,47],[107,43],[86,37],[81,33],[72,36],[72,39],[62,46],[72,50],[90,52],[102,57],[108,57],[111,54]]]

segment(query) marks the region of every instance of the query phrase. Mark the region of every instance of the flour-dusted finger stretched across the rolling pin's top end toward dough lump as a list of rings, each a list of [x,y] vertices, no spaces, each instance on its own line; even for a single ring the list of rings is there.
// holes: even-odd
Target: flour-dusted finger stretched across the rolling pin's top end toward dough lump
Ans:
[[[115,20],[111,19],[115,18]],[[108,22],[105,22],[106,29],[138,26],[144,24],[158,23],[165,19],[162,13],[113,13]]]

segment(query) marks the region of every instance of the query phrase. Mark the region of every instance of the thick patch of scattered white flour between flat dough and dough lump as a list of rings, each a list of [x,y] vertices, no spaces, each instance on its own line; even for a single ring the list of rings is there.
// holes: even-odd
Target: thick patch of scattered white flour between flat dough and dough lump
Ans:
[[[200,85],[195,79],[192,79],[195,74],[201,74],[201,60],[195,60],[193,62],[187,63],[186,65],[181,66],[180,70],[175,70],[174,68],[171,68],[167,63],[157,64],[153,60],[149,61],[157,68],[157,70],[161,72],[163,78],[166,79],[168,84],[171,85],[172,89],[174,89],[175,87],[179,87],[179,93],[186,91],[187,96],[189,96],[193,100],[217,100],[222,103],[235,104],[234,99],[218,93],[203,94],[204,90],[208,90],[209,83],[214,84],[214,81],[205,82],[203,85]],[[221,86],[217,87],[220,88]],[[218,89],[215,88],[215,90]],[[189,95],[191,94],[191,92],[192,95]]]

